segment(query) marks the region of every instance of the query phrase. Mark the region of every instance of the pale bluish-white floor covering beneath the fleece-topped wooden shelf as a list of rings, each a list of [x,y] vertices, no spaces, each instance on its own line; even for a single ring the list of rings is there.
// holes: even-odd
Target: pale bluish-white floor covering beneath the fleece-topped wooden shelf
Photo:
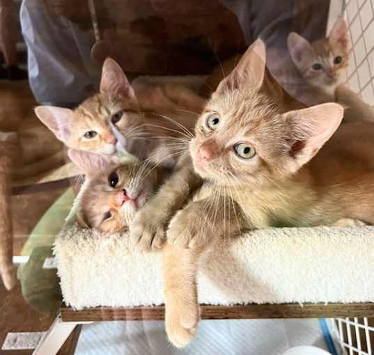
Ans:
[[[326,349],[318,319],[205,320],[183,350],[171,347],[164,322],[94,323],[83,327],[75,354],[281,355],[297,345]]]

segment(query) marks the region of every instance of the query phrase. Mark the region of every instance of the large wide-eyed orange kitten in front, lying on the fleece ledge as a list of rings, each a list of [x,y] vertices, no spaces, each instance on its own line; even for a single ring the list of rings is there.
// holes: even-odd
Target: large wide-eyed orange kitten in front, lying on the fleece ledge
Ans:
[[[203,185],[189,190],[189,202],[171,219],[166,251],[173,252],[164,253],[166,331],[178,347],[196,331],[197,262],[212,244],[256,228],[342,219],[374,223],[374,124],[347,124],[334,134],[343,118],[338,104],[285,111],[260,92],[264,72],[265,46],[258,40],[221,81],[196,123],[189,151]],[[171,181],[136,214],[130,225],[134,242],[176,212],[164,195],[167,187],[169,196],[178,196]]]

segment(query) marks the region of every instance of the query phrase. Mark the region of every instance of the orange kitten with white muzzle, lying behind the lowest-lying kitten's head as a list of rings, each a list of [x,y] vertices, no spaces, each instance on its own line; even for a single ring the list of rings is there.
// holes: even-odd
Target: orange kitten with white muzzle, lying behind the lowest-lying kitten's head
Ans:
[[[181,101],[180,96],[185,97],[185,107],[173,104],[174,99]],[[200,109],[190,112],[189,107]],[[102,67],[100,93],[75,110],[39,106],[35,111],[69,148],[102,155],[114,155],[124,149],[139,159],[154,155],[157,162],[171,156],[165,164],[173,164],[168,138],[175,143],[189,136],[202,107],[200,97],[178,85],[141,87],[136,95],[120,66],[107,58]]]

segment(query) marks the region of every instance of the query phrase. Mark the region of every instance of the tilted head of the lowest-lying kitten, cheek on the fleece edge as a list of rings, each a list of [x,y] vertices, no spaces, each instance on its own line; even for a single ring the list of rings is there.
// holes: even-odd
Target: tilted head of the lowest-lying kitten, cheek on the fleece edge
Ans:
[[[137,160],[116,165],[100,155],[70,150],[69,156],[88,178],[81,196],[81,218],[89,228],[120,232],[152,196],[161,170],[145,168]]]

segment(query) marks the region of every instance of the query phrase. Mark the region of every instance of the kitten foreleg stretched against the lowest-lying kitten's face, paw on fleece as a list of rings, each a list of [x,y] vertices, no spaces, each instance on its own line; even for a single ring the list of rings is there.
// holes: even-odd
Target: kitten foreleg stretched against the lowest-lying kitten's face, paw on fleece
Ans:
[[[144,205],[130,224],[130,239],[141,250],[161,248],[166,240],[166,228],[173,214],[180,210],[192,191],[201,186],[189,156],[180,161],[180,168]]]

